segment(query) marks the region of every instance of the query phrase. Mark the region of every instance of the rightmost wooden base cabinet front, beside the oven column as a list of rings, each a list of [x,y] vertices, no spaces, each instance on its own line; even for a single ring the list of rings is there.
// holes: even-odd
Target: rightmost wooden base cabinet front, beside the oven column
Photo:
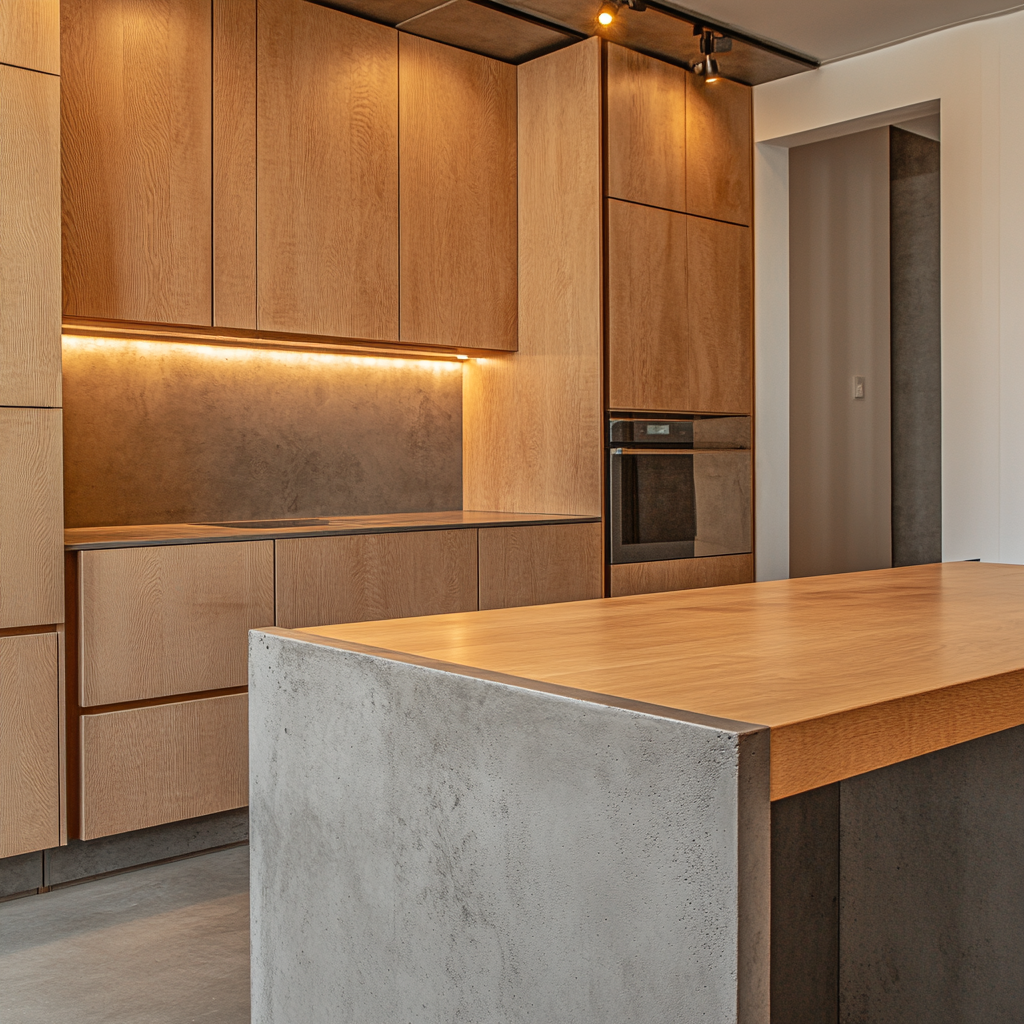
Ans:
[[[599,522],[481,529],[480,607],[602,597],[603,538]]]

